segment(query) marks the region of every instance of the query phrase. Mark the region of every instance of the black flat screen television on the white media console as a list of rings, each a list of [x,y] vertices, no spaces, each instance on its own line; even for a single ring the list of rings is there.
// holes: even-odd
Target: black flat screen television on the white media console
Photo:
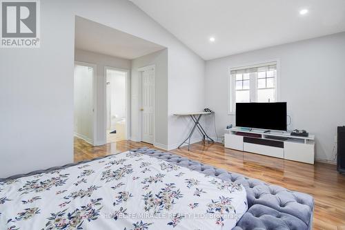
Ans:
[[[286,102],[236,103],[236,126],[286,131]]]

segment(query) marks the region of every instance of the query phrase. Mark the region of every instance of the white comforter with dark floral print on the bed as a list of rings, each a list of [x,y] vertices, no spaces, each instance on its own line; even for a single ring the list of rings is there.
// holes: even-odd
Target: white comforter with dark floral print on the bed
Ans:
[[[0,183],[0,229],[232,229],[241,184],[124,152]]]

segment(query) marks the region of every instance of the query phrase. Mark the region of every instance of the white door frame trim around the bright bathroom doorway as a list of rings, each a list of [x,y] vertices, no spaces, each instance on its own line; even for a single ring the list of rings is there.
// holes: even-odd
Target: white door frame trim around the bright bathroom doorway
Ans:
[[[130,70],[125,68],[117,68],[112,66],[104,66],[103,68],[103,99],[105,103],[104,106],[104,117],[103,117],[103,124],[104,124],[104,140],[107,143],[107,137],[106,137],[106,130],[107,130],[107,90],[106,90],[106,84],[107,84],[107,70],[115,70],[115,71],[121,71],[126,73],[126,140],[130,139]],[[105,143],[105,144],[106,144]]]

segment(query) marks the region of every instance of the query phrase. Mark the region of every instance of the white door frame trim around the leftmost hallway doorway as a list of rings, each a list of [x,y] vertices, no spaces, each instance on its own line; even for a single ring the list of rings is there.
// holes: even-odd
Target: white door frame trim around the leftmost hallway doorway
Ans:
[[[92,143],[90,144],[92,144],[92,146],[95,146],[98,143],[98,140],[97,140],[97,64],[93,64],[93,63],[89,63],[85,61],[75,61],[75,66],[92,67],[92,107],[93,107],[92,121],[93,121],[93,124],[92,124]],[[75,76],[73,75],[73,77]],[[75,88],[74,88],[74,83],[73,83],[73,98],[74,98],[74,92],[75,92]],[[74,111],[74,108],[75,106],[73,104],[73,111]],[[74,127],[74,121],[73,121],[73,127]]]

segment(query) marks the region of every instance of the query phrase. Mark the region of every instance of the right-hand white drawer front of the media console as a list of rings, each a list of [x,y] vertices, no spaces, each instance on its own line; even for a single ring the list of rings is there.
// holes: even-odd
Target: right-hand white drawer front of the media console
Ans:
[[[315,144],[284,143],[284,155],[286,160],[314,164],[314,150]]]

